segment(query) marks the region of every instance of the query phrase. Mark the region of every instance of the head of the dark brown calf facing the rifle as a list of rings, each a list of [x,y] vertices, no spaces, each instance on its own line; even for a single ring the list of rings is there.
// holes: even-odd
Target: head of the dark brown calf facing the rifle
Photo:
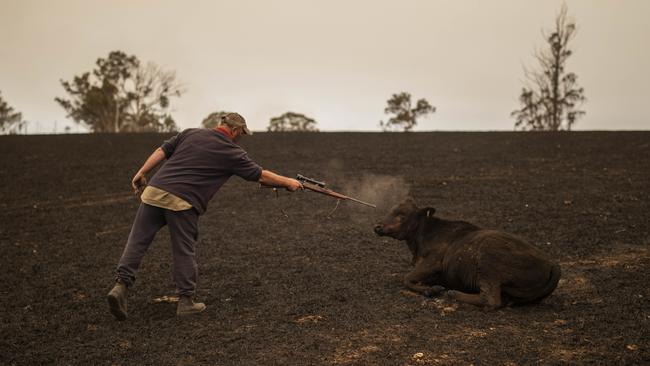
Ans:
[[[388,216],[375,225],[375,233],[398,240],[406,240],[417,229],[422,217],[433,217],[433,207],[418,208],[412,198],[393,207]]]

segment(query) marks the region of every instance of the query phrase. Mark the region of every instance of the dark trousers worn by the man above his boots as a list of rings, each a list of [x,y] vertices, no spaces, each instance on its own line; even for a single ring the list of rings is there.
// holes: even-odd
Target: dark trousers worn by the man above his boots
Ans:
[[[198,221],[199,214],[193,208],[172,211],[140,203],[131,234],[117,266],[117,278],[127,286],[133,285],[145,252],[156,233],[167,225],[172,241],[174,282],[178,294],[192,296],[198,275],[194,250],[199,237]]]

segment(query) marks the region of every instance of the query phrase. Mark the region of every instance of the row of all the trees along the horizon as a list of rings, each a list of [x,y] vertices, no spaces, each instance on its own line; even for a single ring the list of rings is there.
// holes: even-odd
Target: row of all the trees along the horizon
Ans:
[[[544,48],[534,53],[536,67],[524,69],[525,81],[519,95],[520,108],[511,112],[515,128],[531,131],[571,130],[585,114],[579,109],[586,100],[584,88],[578,86],[577,75],[566,71],[566,62],[573,54],[569,43],[577,26],[563,4],[550,31],[543,31]],[[171,115],[171,103],[185,92],[173,71],[156,64],[142,64],[134,55],[110,52],[99,58],[95,68],[61,80],[67,93],[55,101],[75,123],[92,132],[172,132],[178,130]],[[387,100],[384,131],[410,131],[420,118],[436,112],[426,99],[411,101],[411,94],[400,92]],[[227,111],[208,115],[201,125],[216,126]],[[15,111],[0,94],[0,133],[18,133],[25,127],[22,114]],[[272,117],[267,131],[317,132],[316,120],[297,112]]]

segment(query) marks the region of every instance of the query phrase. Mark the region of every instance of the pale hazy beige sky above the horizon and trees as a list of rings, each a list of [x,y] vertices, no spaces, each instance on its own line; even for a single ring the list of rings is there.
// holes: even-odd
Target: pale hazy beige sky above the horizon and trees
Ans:
[[[576,129],[650,128],[650,1],[569,0]],[[0,0],[0,91],[33,124],[72,125],[59,80],[111,50],[176,70],[182,128],[238,111],[253,130],[291,110],[322,130],[378,130],[392,93],[437,107],[416,130],[511,130],[522,66],[559,0]],[[74,130],[74,129],[73,129]]]

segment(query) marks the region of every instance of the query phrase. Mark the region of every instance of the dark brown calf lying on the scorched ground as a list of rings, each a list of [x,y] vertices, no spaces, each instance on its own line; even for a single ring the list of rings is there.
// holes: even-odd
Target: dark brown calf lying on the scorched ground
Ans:
[[[555,290],[560,266],[538,248],[501,231],[443,220],[435,211],[407,199],[375,226],[377,235],[408,244],[415,266],[404,277],[410,290],[433,296],[448,289],[452,299],[492,309],[537,302]]]

